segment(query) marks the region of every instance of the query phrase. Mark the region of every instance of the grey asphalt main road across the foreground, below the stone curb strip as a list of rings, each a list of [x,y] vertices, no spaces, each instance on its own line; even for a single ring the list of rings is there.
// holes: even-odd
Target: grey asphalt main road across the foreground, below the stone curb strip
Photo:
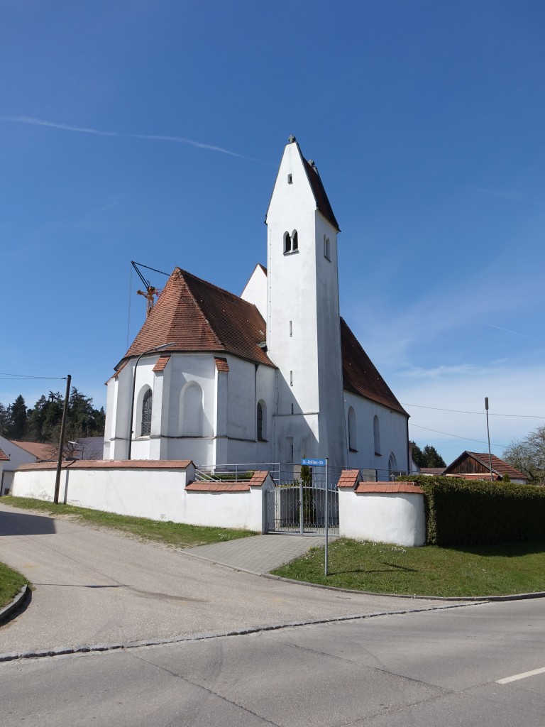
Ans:
[[[2,727],[543,727],[545,603],[0,664]]]

